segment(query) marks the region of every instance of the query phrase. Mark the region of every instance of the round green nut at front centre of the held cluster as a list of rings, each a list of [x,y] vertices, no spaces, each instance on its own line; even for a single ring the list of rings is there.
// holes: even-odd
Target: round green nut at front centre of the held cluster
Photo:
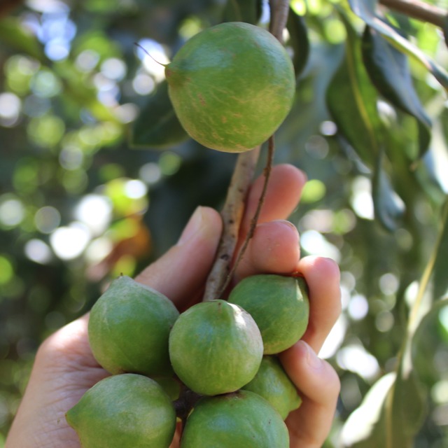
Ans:
[[[260,367],[262,353],[253,318],[225,300],[195,304],[179,316],[169,335],[174,372],[203,395],[237,391],[247,384]]]

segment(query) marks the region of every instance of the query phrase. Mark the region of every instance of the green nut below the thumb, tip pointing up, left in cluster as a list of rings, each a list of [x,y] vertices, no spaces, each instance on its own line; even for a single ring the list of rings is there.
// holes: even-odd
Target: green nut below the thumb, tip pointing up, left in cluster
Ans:
[[[90,311],[88,334],[94,358],[112,374],[172,374],[168,339],[178,317],[165,295],[120,276]]]

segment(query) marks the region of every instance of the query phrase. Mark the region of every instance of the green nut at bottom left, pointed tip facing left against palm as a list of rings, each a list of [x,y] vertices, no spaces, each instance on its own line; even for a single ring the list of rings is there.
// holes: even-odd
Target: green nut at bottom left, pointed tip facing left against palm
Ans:
[[[176,412],[153,379],[118,374],[99,381],[66,412],[83,448],[168,448]]]

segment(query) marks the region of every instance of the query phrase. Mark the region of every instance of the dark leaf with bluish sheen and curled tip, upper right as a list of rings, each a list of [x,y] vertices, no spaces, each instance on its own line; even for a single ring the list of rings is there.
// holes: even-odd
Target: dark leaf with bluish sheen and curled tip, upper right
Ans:
[[[420,102],[409,70],[407,55],[388,43],[375,29],[366,27],[363,58],[372,83],[398,109],[413,116],[419,127],[419,157],[428,150],[431,120]]]

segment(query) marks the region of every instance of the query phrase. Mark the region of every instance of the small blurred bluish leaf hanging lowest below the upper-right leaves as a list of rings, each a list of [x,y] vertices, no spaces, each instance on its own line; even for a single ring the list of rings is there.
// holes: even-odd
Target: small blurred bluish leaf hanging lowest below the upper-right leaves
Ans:
[[[372,197],[375,216],[386,230],[393,232],[402,224],[405,204],[395,193],[391,181],[383,167],[384,155],[377,158],[372,181]]]

